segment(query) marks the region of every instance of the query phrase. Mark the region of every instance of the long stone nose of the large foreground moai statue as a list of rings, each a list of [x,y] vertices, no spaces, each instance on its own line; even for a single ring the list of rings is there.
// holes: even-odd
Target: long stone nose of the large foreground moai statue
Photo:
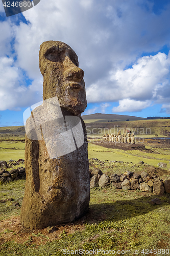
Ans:
[[[69,81],[80,82],[83,79],[84,71],[77,67],[70,58],[66,57],[63,61],[64,78]]]

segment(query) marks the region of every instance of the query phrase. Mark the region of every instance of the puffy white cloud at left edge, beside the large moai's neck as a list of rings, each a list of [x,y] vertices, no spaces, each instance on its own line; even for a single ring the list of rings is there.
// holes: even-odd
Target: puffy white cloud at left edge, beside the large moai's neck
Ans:
[[[42,99],[41,81],[34,81],[29,87],[22,80],[23,73],[13,66],[14,60],[0,58],[0,110],[16,110],[34,104]]]

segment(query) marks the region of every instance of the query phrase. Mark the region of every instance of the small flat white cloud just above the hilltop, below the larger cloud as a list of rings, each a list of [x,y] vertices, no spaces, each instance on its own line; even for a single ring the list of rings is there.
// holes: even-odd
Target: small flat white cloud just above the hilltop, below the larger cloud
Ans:
[[[112,109],[112,112],[140,112],[151,105],[151,100],[139,101],[132,99],[119,100],[119,105]]]

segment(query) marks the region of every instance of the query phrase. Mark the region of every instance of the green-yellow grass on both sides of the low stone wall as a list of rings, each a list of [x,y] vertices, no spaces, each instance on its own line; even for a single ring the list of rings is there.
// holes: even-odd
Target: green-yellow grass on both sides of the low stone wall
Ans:
[[[0,160],[24,159],[24,134],[7,133],[5,130],[0,133]],[[88,136],[90,168],[98,167],[107,175],[132,169],[140,172],[148,165],[157,166],[159,162],[167,163],[167,168],[170,168],[169,147],[162,140],[144,140],[148,149],[146,152],[123,151],[102,147],[100,143],[93,144],[97,137],[95,135],[93,141]],[[93,158],[108,161],[99,164],[100,161],[94,161]],[[111,162],[114,160],[124,161],[124,164]],[[139,161],[145,164],[138,164]],[[162,170],[162,179],[168,174],[168,169]],[[56,231],[48,233],[46,228],[30,230],[20,224],[25,182],[15,180],[0,184],[0,256],[65,255],[64,249],[71,252],[66,255],[89,255],[90,250],[91,254],[96,255],[93,249],[98,249],[98,255],[108,254],[107,250],[114,250],[114,255],[121,256],[135,255],[134,250],[140,256],[170,254],[169,194],[158,196],[112,186],[91,189],[88,214],[74,223],[58,225]],[[7,200],[10,198],[13,201]],[[154,198],[159,198],[161,204],[153,205],[151,200]],[[15,206],[16,203],[19,205]],[[80,249],[84,252],[81,253]],[[75,253],[75,250],[79,253]]]

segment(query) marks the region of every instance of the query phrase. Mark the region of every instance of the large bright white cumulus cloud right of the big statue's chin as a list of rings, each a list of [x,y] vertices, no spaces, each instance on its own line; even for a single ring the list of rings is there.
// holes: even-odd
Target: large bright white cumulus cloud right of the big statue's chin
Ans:
[[[90,102],[132,99],[163,103],[170,97],[169,69],[170,54],[144,56],[131,69],[112,70],[105,80],[92,84],[87,89],[87,98]]]

